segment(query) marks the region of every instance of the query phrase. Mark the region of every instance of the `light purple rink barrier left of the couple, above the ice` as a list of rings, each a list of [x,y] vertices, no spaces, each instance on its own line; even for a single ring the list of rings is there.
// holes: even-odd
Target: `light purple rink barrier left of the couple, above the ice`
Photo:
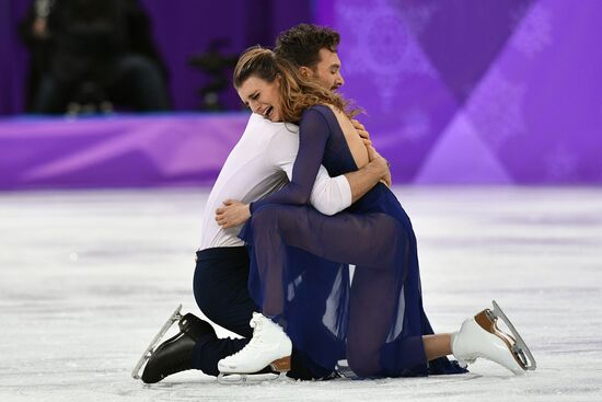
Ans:
[[[0,120],[0,189],[212,184],[247,114]]]

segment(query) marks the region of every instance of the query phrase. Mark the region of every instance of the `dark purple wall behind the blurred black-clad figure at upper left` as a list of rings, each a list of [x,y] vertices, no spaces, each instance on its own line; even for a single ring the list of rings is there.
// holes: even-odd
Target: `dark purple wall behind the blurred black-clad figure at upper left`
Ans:
[[[211,41],[225,38],[225,54],[248,46],[271,46],[278,32],[312,21],[311,0],[140,0],[153,23],[153,36],[170,70],[170,89],[176,111],[195,110],[196,94],[208,78],[188,67],[189,56],[208,50]],[[24,108],[27,49],[16,33],[32,0],[0,0],[0,115]],[[239,107],[229,87],[223,101]]]

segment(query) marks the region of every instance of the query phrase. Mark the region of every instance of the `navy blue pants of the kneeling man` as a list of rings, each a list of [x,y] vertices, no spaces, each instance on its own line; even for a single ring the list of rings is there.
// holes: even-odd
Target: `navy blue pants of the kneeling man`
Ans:
[[[259,311],[248,295],[248,253],[244,246],[215,248],[197,251],[194,276],[196,302],[216,324],[243,338],[215,338],[207,335],[197,342],[193,367],[202,372],[219,375],[218,361],[242,349],[253,336],[248,325],[254,311]],[[293,349],[291,370],[294,379],[326,378],[331,371]]]

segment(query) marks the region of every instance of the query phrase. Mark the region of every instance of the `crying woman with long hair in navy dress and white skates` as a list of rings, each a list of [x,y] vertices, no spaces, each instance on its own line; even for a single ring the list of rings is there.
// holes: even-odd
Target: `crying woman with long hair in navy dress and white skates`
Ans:
[[[416,238],[386,184],[333,217],[308,206],[321,163],[339,175],[380,157],[357,135],[346,101],[258,47],[239,59],[234,87],[254,113],[300,126],[291,182],[250,206],[228,200],[216,218],[232,227],[251,215],[240,234],[252,259],[251,295],[297,348],[326,368],[346,357],[362,378],[465,372],[445,358],[452,352],[464,361],[494,359],[516,374],[528,368],[524,344],[512,354],[518,342],[495,329],[499,310],[466,320],[459,333],[432,334],[422,309]],[[356,265],[350,289],[345,264]],[[252,321],[256,332],[265,333],[254,340],[264,341],[252,341],[238,356],[223,359],[220,370],[252,370],[245,359],[257,358],[266,338],[277,342],[266,321]],[[277,360],[273,367],[286,370],[290,345],[282,345],[270,358]]]

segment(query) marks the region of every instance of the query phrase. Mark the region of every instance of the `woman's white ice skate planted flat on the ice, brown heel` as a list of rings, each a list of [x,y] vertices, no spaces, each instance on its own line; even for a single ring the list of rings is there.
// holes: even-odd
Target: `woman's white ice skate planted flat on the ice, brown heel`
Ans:
[[[219,360],[220,382],[245,382],[251,375],[262,380],[275,379],[290,370],[292,343],[282,328],[256,312],[250,324],[253,337],[248,344],[232,356]]]

